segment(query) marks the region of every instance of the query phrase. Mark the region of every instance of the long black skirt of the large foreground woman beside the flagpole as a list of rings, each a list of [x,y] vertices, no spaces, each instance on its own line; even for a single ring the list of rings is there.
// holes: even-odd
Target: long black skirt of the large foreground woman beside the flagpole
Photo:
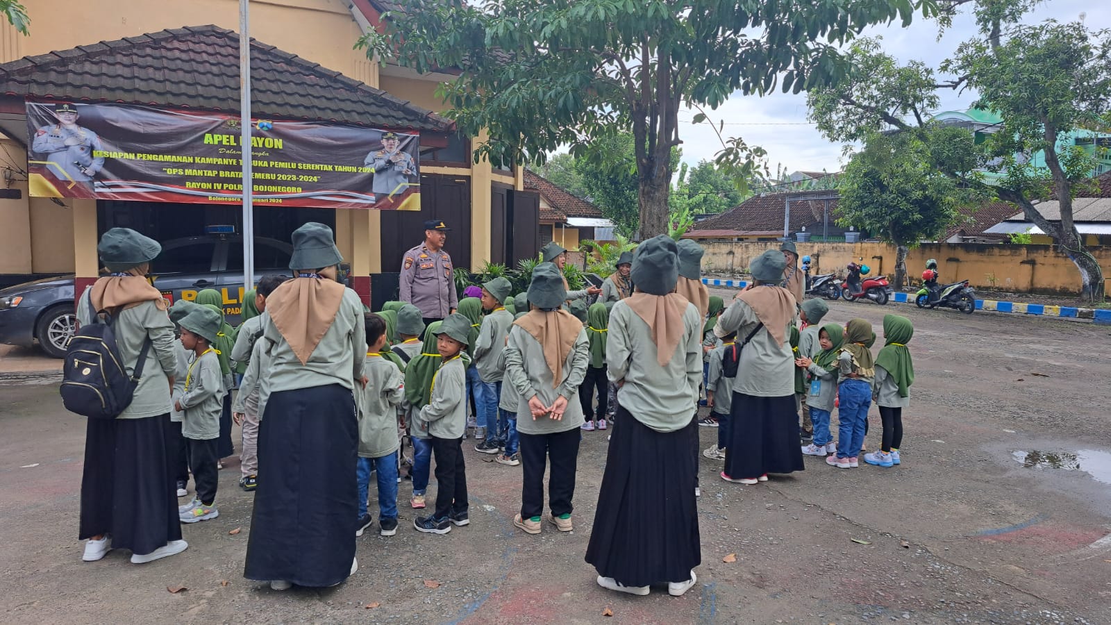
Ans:
[[[359,427],[340,385],[270,395],[259,425],[259,482],[248,579],[339,584],[351,573],[358,516]]]

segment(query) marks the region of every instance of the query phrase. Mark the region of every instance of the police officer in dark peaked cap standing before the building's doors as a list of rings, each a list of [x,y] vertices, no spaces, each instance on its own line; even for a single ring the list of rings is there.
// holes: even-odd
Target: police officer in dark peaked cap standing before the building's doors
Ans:
[[[451,257],[443,251],[450,230],[438,219],[426,221],[424,242],[401,261],[401,301],[420,308],[424,325],[444,319],[459,306]]]

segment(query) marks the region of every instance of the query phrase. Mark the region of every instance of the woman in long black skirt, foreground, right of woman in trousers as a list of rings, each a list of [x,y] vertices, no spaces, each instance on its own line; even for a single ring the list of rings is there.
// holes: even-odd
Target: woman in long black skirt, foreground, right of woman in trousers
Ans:
[[[691,406],[702,374],[702,319],[674,291],[679,255],[659,236],[637,248],[637,290],[610,312],[605,364],[620,386],[587,562],[598,585],[647,595],[668,584],[679,596],[701,563]]]

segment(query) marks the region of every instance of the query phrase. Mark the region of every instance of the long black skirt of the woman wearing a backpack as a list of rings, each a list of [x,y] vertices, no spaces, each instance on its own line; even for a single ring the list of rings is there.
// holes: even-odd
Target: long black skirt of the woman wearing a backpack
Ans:
[[[89,419],[78,538],[112,535],[112,548],[147,555],[181,539],[170,415]]]

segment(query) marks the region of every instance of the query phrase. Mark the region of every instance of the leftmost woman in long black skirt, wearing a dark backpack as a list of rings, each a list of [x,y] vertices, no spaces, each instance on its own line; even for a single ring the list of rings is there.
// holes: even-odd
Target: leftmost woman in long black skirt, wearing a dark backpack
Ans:
[[[150,261],[161,250],[158,241],[129,228],[108,230],[97,251],[109,275],[87,288],[78,305],[82,326],[111,317],[123,366],[140,376],[131,404],[118,417],[88,420],[78,534],[88,540],[86,562],[110,549],[130,549],[131,562],[142,564],[189,546],[181,539],[173,487],[179,445],[170,426],[178,368],[173,323],[162,294],[147,281]],[[141,351],[142,370],[136,371]]]

